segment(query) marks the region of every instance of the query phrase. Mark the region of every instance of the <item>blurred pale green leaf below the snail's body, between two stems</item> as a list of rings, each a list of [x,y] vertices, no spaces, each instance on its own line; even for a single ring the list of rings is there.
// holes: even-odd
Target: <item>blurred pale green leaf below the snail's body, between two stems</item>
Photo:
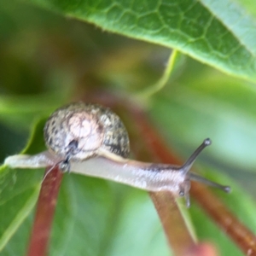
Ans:
[[[169,255],[148,193],[91,177],[64,178],[50,255],[146,256],[155,252]]]

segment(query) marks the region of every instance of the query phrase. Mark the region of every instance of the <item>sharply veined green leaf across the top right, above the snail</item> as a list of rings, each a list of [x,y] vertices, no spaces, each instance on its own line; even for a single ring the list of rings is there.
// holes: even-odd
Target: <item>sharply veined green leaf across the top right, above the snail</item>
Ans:
[[[178,49],[226,73],[256,81],[256,21],[230,0],[28,2],[103,30]]]

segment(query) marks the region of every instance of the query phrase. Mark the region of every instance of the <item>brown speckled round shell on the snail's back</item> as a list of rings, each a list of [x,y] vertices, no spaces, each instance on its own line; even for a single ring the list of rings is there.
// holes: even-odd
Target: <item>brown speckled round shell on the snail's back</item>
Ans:
[[[65,159],[69,143],[78,142],[71,160],[86,160],[99,148],[127,157],[129,137],[119,116],[109,108],[83,102],[72,103],[52,113],[44,126],[46,146]]]

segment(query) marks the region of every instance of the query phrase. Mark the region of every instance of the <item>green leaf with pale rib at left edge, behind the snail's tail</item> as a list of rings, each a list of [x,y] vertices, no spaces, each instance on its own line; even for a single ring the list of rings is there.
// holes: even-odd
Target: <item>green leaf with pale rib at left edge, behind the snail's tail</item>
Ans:
[[[44,122],[38,122],[24,154],[36,154],[42,148],[45,150],[42,145],[43,127]],[[36,204],[41,179],[42,172],[0,167],[0,251]]]

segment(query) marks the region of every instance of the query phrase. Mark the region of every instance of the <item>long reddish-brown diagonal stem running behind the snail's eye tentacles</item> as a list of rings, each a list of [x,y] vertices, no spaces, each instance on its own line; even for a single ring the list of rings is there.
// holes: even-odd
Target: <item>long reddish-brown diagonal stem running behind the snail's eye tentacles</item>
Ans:
[[[148,123],[143,113],[132,111],[132,117],[141,131],[143,141],[148,143],[148,148],[154,155],[163,162],[180,164],[180,160],[166,147],[166,143],[163,142],[152,125]],[[201,205],[202,209],[207,212],[208,216],[240,247],[243,253],[256,255],[256,236],[241,224],[240,220],[224,206],[209,188],[200,183],[192,183],[190,194]]]

